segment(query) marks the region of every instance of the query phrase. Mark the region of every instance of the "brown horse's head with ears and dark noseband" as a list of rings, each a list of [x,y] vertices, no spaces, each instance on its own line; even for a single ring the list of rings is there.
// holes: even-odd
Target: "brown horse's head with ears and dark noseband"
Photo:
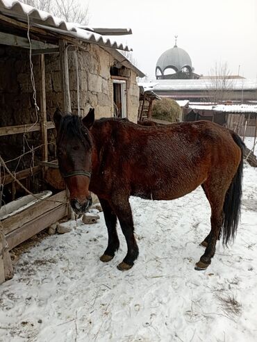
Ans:
[[[57,157],[60,173],[69,189],[69,201],[78,215],[92,204],[89,184],[92,170],[92,138],[90,128],[94,123],[94,109],[83,119],[78,115],[56,109],[53,115],[56,125]]]

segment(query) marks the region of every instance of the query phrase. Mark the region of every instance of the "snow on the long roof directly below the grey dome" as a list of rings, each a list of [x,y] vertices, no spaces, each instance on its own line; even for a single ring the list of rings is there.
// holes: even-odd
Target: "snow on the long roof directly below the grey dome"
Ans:
[[[251,79],[229,79],[233,90],[255,90],[257,81]],[[212,90],[213,79],[160,79],[154,91],[161,90]]]

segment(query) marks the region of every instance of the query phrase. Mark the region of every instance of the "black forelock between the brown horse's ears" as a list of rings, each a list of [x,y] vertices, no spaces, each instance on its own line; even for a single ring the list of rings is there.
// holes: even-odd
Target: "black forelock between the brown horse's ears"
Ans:
[[[92,140],[88,134],[88,130],[78,115],[67,114],[61,118],[58,129],[58,142],[60,143],[67,136],[78,137],[83,142],[83,145],[85,145],[85,142],[88,142],[92,146]]]

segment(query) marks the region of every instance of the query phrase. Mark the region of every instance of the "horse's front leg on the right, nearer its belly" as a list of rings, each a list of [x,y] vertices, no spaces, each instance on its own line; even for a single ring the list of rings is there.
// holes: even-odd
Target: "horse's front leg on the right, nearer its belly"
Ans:
[[[128,202],[128,197],[124,196],[116,197],[112,202],[113,209],[119,219],[119,224],[122,228],[122,232],[126,238],[126,245],[128,252],[126,257],[119,263],[117,268],[119,270],[129,270],[133,265],[135,259],[138,258],[138,245],[134,236],[134,224],[131,211],[131,205]]]

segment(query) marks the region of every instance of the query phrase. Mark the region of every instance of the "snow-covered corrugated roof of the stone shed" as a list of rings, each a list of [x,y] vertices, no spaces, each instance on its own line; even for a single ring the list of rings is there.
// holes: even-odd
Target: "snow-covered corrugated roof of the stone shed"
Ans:
[[[40,26],[47,31],[55,31],[56,33],[68,35],[69,37],[85,42],[104,45],[106,47],[132,51],[126,44],[111,40],[105,36],[108,34],[108,30],[110,35],[117,35],[131,34],[131,29],[94,29],[75,23],[65,22],[63,19],[53,17],[50,13],[38,10],[37,8],[17,0],[0,0],[0,12],[22,22],[27,22],[29,16],[31,26]],[[122,33],[122,31],[124,33]],[[101,32],[104,36],[97,32]]]

